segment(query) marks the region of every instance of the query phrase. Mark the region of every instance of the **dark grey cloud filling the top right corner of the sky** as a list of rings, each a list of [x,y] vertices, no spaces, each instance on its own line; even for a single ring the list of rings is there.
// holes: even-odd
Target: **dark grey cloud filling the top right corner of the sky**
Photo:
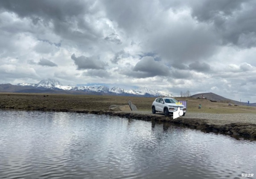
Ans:
[[[213,23],[224,44],[241,48],[256,46],[256,1],[201,0],[192,4],[192,17]]]

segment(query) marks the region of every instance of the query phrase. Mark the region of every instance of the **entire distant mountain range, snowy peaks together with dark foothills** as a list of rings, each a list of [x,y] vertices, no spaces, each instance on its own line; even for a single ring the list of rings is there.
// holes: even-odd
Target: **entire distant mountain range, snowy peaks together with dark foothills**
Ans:
[[[56,93],[56,94],[95,94],[95,95],[118,95],[118,96],[143,96],[143,97],[172,97],[164,91],[149,89],[146,87],[125,90],[119,87],[108,88],[104,85],[99,86],[72,86],[62,85],[58,80],[41,80],[37,84],[18,83],[0,84],[0,92],[15,93]]]

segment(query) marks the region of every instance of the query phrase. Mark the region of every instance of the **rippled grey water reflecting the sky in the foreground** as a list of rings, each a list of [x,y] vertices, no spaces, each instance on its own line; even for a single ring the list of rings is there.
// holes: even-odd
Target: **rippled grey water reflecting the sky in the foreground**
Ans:
[[[114,116],[0,110],[0,179],[256,179],[256,142]]]

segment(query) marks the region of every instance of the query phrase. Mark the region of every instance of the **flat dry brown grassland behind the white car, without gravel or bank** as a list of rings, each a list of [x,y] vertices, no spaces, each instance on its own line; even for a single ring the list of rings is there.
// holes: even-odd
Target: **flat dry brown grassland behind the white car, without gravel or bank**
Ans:
[[[48,97],[47,97],[48,95]],[[46,97],[44,97],[46,96]],[[151,111],[153,97],[122,97],[99,95],[68,95],[68,94],[20,94],[0,93],[0,108],[17,109],[73,109],[73,110],[108,110],[110,105],[127,105],[134,103],[140,111]],[[256,107],[228,106],[227,103],[210,102],[207,99],[176,98],[188,100],[188,112],[198,113],[254,113]],[[202,108],[198,109],[201,103]]]

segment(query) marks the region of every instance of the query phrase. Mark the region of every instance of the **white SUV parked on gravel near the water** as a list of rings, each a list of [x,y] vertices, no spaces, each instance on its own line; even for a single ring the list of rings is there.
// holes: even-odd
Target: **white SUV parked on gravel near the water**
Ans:
[[[152,104],[152,113],[163,112],[165,116],[173,114],[174,111],[177,111],[178,107],[180,110],[183,110],[183,116],[186,114],[186,107],[180,104],[174,98],[156,98]]]

